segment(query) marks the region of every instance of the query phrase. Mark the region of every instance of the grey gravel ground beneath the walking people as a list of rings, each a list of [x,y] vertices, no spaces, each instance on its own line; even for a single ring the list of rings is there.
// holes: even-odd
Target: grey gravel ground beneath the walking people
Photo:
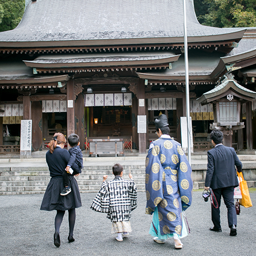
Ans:
[[[253,205],[256,192],[250,192]],[[117,242],[111,234],[111,222],[105,214],[92,211],[95,194],[81,194],[82,207],[76,210],[74,243],[68,243],[68,214],[61,228],[59,248],[53,244],[56,211],[40,211],[44,195],[0,196],[0,255],[255,255],[255,209],[241,206],[238,236],[230,237],[227,210],[222,201],[222,232],[208,230],[211,224],[210,203],[204,202],[202,191],[193,192],[193,203],[186,210],[191,233],[182,239],[181,250],[175,250],[173,239],[157,244],[148,234],[151,217],[144,214],[145,193],[138,194],[138,207],[132,212],[130,237]]]

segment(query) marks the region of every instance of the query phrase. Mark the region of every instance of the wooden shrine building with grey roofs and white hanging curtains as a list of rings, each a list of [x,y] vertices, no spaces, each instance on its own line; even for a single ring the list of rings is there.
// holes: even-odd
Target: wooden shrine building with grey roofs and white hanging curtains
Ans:
[[[253,150],[256,28],[200,25],[193,0],[186,13],[194,151],[210,148],[215,123],[214,96],[210,103],[197,99],[227,73],[240,90],[238,97],[229,87],[229,94],[244,122],[232,131],[232,146]],[[222,96],[227,118],[233,98]],[[0,148],[18,145],[21,120],[32,119],[32,151],[62,132],[78,134],[82,150],[89,139],[118,138],[144,154],[157,138],[159,114],[181,142],[185,97],[182,0],[26,0],[19,25],[0,33]]]

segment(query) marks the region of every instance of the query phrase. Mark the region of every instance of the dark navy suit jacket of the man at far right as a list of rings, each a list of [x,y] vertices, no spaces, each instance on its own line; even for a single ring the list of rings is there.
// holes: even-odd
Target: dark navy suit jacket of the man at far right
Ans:
[[[234,186],[237,187],[238,172],[242,170],[242,163],[239,160],[233,147],[218,145],[207,152],[208,164],[205,178],[205,186],[211,189]]]

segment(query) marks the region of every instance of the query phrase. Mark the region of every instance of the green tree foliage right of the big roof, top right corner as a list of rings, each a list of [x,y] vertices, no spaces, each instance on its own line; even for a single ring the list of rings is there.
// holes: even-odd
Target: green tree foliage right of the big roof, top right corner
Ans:
[[[194,0],[195,11],[202,25],[256,27],[255,0]]]

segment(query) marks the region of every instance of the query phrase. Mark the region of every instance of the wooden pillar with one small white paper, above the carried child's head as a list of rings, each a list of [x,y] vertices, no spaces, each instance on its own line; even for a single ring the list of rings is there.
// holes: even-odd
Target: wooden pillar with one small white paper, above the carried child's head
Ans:
[[[67,82],[67,136],[75,133],[74,81]]]

